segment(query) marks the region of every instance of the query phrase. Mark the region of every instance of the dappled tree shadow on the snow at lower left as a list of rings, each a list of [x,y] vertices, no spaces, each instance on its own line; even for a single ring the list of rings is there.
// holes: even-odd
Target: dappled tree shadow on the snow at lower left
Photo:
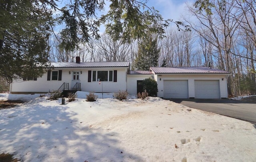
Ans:
[[[43,98],[44,99],[44,98]],[[13,153],[22,161],[142,161],[118,148],[116,132],[90,128],[66,111],[68,106],[41,105],[39,100],[0,110],[0,153]],[[44,99],[45,100],[45,99]],[[49,101],[54,102],[54,101]],[[72,118],[73,117],[73,118]],[[104,133],[105,132],[105,133]],[[124,152],[124,153],[121,153]]]

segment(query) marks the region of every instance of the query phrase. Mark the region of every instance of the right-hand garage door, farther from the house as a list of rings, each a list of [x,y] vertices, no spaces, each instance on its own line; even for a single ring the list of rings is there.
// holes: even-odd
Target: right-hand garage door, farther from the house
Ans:
[[[195,80],[195,98],[220,98],[219,80]]]

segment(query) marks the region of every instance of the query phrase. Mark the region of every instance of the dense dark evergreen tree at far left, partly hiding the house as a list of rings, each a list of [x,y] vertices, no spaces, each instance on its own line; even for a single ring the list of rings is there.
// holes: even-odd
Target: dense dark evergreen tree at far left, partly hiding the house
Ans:
[[[47,65],[50,14],[37,0],[0,2],[0,76],[37,77]]]

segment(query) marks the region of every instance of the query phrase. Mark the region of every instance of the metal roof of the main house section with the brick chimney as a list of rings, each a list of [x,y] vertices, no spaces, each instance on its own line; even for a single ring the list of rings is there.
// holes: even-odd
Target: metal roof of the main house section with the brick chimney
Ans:
[[[56,68],[76,68],[76,67],[129,67],[129,62],[52,62]]]

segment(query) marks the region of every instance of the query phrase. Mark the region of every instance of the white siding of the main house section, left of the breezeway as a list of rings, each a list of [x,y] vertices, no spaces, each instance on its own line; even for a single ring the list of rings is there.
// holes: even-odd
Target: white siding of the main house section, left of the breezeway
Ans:
[[[104,70],[117,70],[117,82],[103,82],[99,84],[98,82],[88,82],[88,70],[103,70],[103,68],[55,68],[55,70],[62,70],[62,80],[47,80],[47,72],[37,81],[22,81],[16,80],[12,83],[10,87],[11,93],[47,93],[52,92],[52,90],[58,90],[60,86],[65,82],[69,84],[69,89],[72,87],[73,73],[72,71],[78,71],[79,80],[81,83],[81,90],[84,92],[118,92],[118,90],[126,90],[126,72],[127,68],[104,68]],[[82,73],[81,73],[82,71]],[[69,73],[70,72],[70,73]],[[51,78],[52,79],[52,78]]]

